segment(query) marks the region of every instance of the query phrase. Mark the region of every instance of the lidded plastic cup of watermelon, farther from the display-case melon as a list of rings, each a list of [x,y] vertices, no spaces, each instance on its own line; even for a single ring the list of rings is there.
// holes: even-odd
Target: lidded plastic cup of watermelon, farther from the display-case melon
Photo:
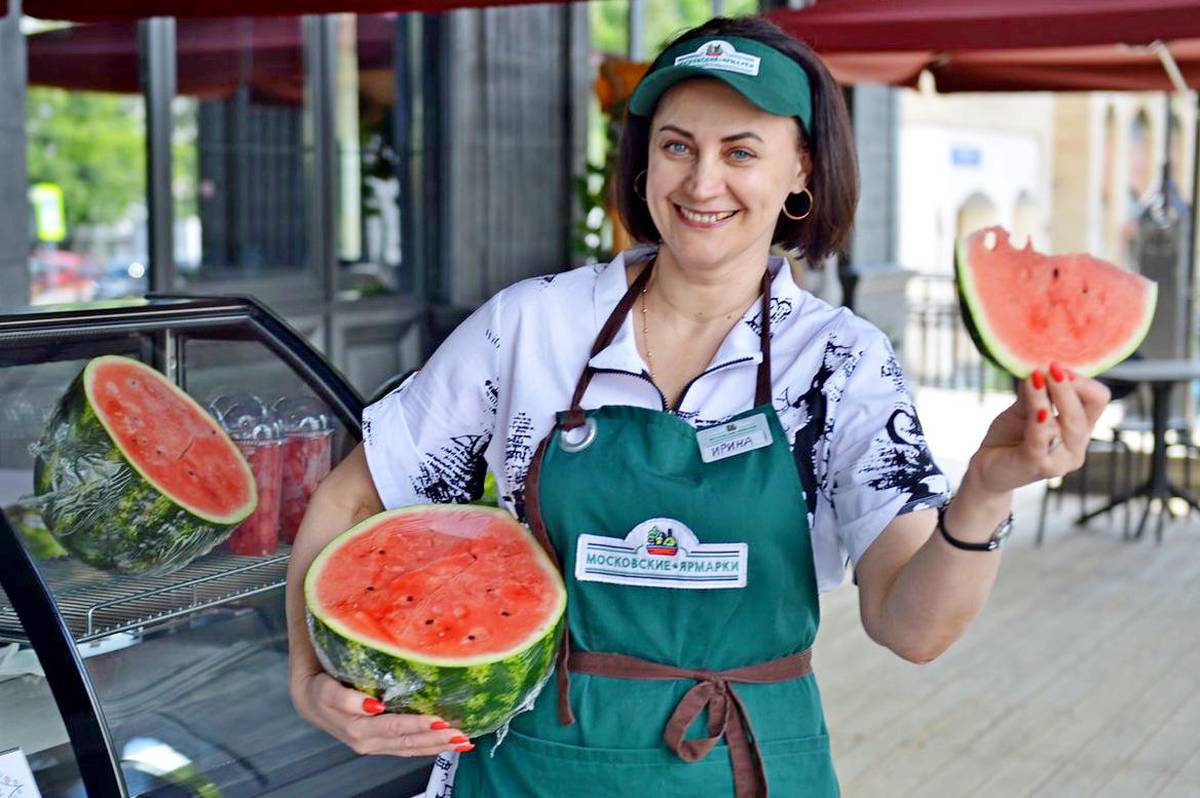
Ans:
[[[280,539],[292,542],[317,485],[332,462],[334,425],[325,406],[308,396],[288,396],[271,408],[283,431],[283,506]]]

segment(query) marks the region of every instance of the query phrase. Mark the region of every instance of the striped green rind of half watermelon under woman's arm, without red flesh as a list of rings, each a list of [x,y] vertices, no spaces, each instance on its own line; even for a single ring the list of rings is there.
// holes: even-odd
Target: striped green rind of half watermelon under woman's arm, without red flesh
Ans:
[[[305,577],[308,634],[322,666],[334,678],[380,698],[390,712],[437,715],[464,734],[493,732],[528,709],[553,668],[566,611],[566,589],[550,557],[534,545],[546,572],[559,586],[559,602],[546,622],[509,650],[473,658],[431,656],[364,635],[329,617],[317,600],[322,565],[341,542],[388,518],[410,512],[462,512],[464,505],[410,505],[372,516],[335,538],[313,559]],[[518,522],[503,509],[472,511]],[[528,533],[526,533],[528,534]]]

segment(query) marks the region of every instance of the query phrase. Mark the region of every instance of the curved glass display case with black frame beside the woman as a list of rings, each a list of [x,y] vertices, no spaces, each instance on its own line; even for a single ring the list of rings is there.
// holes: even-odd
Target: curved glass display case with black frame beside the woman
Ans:
[[[226,541],[144,575],[86,565],[47,533],[40,440],[101,355],[154,367],[214,415],[232,396],[319,407],[328,445],[305,456],[324,468],[359,439],[359,395],[253,300],[151,296],[0,314],[0,752],[20,750],[44,798],[420,792],[427,761],[356,756],[293,710],[286,535],[250,553]],[[298,478],[282,470],[294,510]]]

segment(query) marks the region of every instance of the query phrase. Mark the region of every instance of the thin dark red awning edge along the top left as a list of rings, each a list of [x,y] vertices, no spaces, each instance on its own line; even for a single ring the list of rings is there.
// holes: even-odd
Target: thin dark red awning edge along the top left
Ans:
[[[563,2],[568,0],[539,0]],[[450,11],[528,5],[529,0],[25,0],[24,12],[40,19],[115,22],[144,17],[296,17],[341,12],[384,13]]]

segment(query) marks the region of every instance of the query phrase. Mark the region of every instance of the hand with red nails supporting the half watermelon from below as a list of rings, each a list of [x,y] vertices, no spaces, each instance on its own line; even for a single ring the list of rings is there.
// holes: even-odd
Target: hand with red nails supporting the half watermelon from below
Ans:
[[[434,715],[386,713],[377,698],[343,688],[324,671],[293,674],[292,703],[301,718],[349,745],[355,754],[436,756],[475,748]]]

